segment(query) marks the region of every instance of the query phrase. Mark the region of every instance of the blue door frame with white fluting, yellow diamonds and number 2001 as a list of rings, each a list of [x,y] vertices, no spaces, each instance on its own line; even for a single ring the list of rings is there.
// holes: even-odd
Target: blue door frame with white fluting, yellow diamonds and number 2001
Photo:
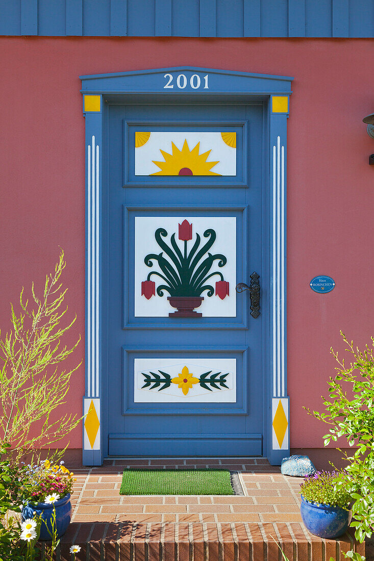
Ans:
[[[179,76],[185,76],[179,79]],[[198,76],[197,80],[194,76]],[[207,77],[207,78],[206,78]],[[83,397],[83,465],[102,465],[107,455],[106,408],[106,270],[103,229],[108,186],[108,102],[166,103],[240,101],[263,103],[263,455],[272,465],[289,456],[289,397],[286,358],[286,153],[291,81],[272,76],[211,68],[155,68],[80,76],[85,117],[86,282],[85,395]],[[197,84],[200,84],[199,87]],[[179,86],[185,85],[184,88]],[[264,282],[264,280],[266,282]]]

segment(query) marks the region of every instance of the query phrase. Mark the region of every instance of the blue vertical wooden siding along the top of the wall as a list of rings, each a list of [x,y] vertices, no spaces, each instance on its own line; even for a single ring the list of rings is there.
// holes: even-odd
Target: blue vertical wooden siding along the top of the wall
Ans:
[[[374,37],[373,0],[0,0],[0,35]]]

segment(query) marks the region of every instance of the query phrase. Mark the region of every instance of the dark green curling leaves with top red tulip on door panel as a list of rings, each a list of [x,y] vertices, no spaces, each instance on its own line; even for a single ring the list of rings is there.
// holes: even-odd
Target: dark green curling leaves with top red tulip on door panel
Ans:
[[[153,270],[148,274],[147,282],[153,275],[160,277],[165,284],[157,287],[158,296],[163,296],[166,291],[170,296],[201,296],[207,291],[207,296],[213,296],[215,289],[208,280],[217,276],[224,281],[222,273],[218,271],[210,272],[213,263],[218,260],[218,267],[223,267],[227,263],[225,255],[211,254],[213,243],[216,241],[216,232],[212,228],[206,229],[204,237],[208,238],[206,243],[200,247],[201,237],[197,233],[195,242],[188,251],[187,242],[192,239],[191,224],[184,220],[179,226],[179,239],[184,241],[184,251],[182,252],[175,240],[175,233],[170,237],[170,245],[163,238],[168,233],[165,228],[157,228],[154,238],[162,249],[161,253],[150,253],[144,257],[147,267],[152,267],[153,262],[157,261],[161,273]],[[165,255],[164,255],[165,254]],[[207,255],[207,256],[206,256]],[[203,257],[206,256],[204,259]]]

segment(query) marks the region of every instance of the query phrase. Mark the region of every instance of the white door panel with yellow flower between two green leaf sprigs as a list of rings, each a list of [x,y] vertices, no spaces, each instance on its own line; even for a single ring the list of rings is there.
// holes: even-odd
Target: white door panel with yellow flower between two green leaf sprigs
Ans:
[[[135,358],[135,403],[236,403],[235,358]]]

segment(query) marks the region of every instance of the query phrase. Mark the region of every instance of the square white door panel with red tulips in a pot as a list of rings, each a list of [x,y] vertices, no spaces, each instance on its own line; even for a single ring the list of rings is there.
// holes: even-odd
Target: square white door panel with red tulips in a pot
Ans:
[[[135,316],[236,316],[235,217],[135,217]]]

